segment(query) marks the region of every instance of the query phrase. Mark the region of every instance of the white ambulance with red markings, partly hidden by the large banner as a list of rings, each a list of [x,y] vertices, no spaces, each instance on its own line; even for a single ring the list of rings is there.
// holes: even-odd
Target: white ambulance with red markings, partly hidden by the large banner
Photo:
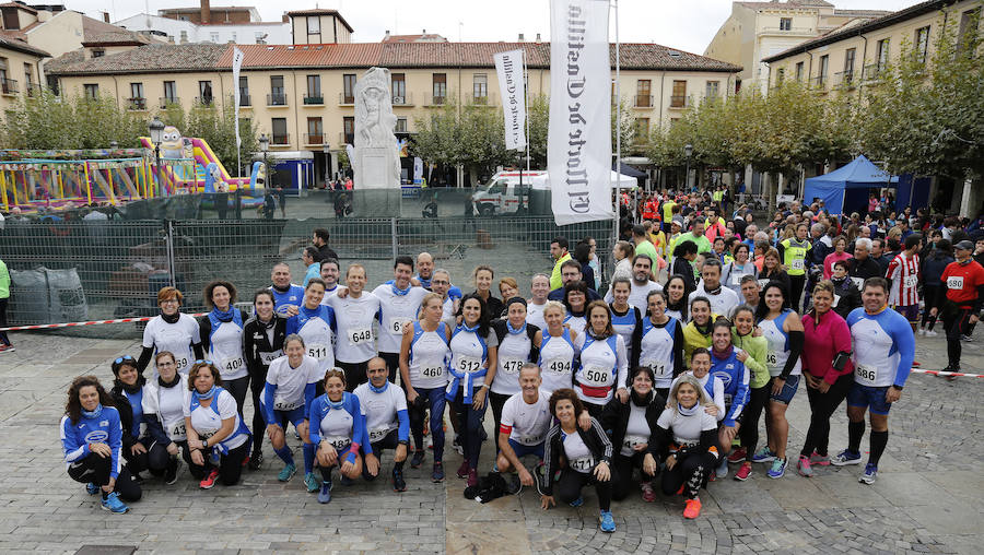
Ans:
[[[549,191],[550,176],[546,170],[523,172],[523,185],[519,184],[520,172],[499,172],[482,188],[472,193],[475,212],[491,216],[494,214],[515,214],[529,209],[530,191]],[[621,180],[622,190],[637,187],[634,177],[611,173],[612,189],[616,180]]]

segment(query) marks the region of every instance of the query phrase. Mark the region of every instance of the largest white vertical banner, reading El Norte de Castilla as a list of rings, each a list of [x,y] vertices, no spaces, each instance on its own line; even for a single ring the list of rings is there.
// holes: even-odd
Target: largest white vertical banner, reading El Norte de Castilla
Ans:
[[[557,225],[614,216],[608,9],[608,0],[550,2],[547,169]]]

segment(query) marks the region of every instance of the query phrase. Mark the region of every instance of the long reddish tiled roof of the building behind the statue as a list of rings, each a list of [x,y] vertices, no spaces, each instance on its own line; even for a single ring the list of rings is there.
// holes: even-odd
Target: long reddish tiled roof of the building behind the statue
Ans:
[[[49,74],[139,73],[152,71],[229,70],[232,46],[211,44],[148,45],[94,59],[52,60]],[[237,45],[247,69],[288,68],[493,68],[492,55],[522,48],[530,68],[550,67],[549,43],[352,43],[330,45]],[[614,46],[611,64],[614,67]],[[623,44],[621,67],[626,70],[690,70],[738,72],[741,68],[654,44]]]

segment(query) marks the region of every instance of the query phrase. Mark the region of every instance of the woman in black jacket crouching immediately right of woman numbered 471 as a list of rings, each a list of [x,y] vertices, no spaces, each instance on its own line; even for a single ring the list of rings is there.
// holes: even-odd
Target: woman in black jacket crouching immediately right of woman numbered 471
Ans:
[[[656,422],[666,408],[666,399],[653,389],[655,379],[648,367],[635,367],[629,379],[629,402],[612,398],[601,413],[601,423],[605,429],[611,430],[611,442],[618,449],[612,461],[616,476],[612,497],[621,500],[629,496],[632,471],[640,469],[643,500],[653,503],[656,492],[651,479],[659,472],[659,463],[648,448],[656,437]]]

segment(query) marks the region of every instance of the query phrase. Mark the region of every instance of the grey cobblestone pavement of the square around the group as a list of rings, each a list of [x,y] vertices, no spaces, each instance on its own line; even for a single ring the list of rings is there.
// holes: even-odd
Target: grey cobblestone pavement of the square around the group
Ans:
[[[757,465],[745,483],[710,485],[703,515],[686,521],[680,498],[645,504],[637,494],[616,503],[618,531],[597,526],[597,501],[586,491],[579,509],[542,511],[536,492],[479,505],[462,497],[454,476],[460,457],[446,457],[448,479],[432,484],[429,454],[408,468],[408,491],[385,480],[335,489],[329,505],[302,491],[301,476],[281,484],[280,464],[244,472],[242,484],[199,491],[187,471],[173,486],[144,481],[128,515],[98,509],[95,497],[68,479],[57,423],[74,376],[108,382],[108,361],[137,354],[129,340],[16,333],[17,350],[0,355],[0,552],[73,553],[83,545],[130,545],[140,552],[236,553],[317,550],[339,553],[980,553],[984,522],[984,430],[977,397],[984,380],[948,382],[913,375],[890,417],[889,447],[874,486],[857,483],[859,467],[818,468],[804,479],[793,465],[769,480]],[[964,345],[967,371],[984,368],[981,340]],[[918,338],[917,359],[944,365],[941,339]],[[246,409],[247,413],[251,408]],[[809,408],[793,401],[789,450],[801,445]],[[487,428],[491,433],[491,415]],[[831,450],[846,441],[843,412],[832,425]],[[491,464],[491,444],[483,468]],[[867,449],[867,437],[863,442]],[[300,451],[300,449],[297,449]],[[300,452],[296,453],[300,459]],[[388,458],[384,475],[388,475]],[[735,470],[735,468],[733,468]]]

